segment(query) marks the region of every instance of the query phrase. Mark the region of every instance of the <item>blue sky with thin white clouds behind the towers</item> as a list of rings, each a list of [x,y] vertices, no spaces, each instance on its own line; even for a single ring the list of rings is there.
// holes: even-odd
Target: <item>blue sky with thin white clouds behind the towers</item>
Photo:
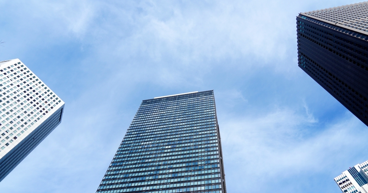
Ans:
[[[214,90],[230,193],[340,192],[367,126],[297,66],[311,1],[0,0],[0,60],[66,103],[1,192],[95,192],[142,100]]]

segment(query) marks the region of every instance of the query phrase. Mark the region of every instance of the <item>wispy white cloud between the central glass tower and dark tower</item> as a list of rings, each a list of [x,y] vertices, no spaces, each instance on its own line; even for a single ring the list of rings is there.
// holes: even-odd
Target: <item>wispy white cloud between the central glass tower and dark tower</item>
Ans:
[[[334,125],[314,125],[317,131],[306,128],[309,123],[309,115],[287,109],[226,120],[220,132],[228,191],[244,192],[246,186],[245,192],[265,192],[275,186],[275,192],[283,192],[275,182],[356,164],[349,156],[356,158],[366,148],[362,142],[368,137],[356,117],[350,115]],[[337,176],[342,171],[334,172]],[[288,186],[295,190],[298,183]]]

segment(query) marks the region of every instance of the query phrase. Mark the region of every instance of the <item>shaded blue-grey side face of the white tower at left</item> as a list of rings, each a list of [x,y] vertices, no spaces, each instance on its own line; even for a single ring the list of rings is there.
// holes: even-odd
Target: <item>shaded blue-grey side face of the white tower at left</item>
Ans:
[[[0,181],[2,181],[33,149],[42,142],[61,122],[64,105],[32,131],[25,139],[0,159]]]

